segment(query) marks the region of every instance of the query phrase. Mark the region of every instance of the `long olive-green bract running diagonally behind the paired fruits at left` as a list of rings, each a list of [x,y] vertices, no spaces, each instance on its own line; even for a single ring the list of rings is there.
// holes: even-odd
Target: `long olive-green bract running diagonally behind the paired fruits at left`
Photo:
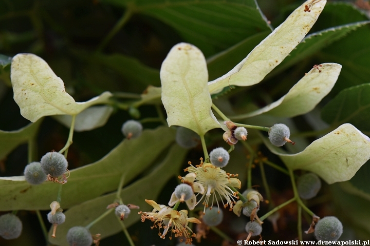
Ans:
[[[175,139],[174,130],[159,127],[144,130],[135,139],[123,140],[102,159],[70,171],[68,182],[63,185],[63,209],[93,199],[117,189],[122,172],[127,172],[125,184],[150,167],[160,153]],[[31,186],[24,176],[0,177],[0,211],[49,210],[57,199],[59,185],[44,182]]]

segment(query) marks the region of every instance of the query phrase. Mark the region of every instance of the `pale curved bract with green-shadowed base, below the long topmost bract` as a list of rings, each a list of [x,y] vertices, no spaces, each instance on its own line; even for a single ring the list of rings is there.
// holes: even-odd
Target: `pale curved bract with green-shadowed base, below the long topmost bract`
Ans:
[[[279,100],[262,109],[230,118],[243,119],[264,113],[278,117],[294,117],[311,111],[334,87],[342,69],[341,65],[335,63],[324,63],[320,66],[312,68]]]

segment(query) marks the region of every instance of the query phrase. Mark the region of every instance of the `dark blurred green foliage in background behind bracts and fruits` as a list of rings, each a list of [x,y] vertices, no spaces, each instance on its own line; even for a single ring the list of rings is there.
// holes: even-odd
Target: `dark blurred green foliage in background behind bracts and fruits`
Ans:
[[[87,100],[103,91],[116,93],[114,112],[107,124],[99,129],[76,133],[68,152],[69,169],[97,161],[122,141],[120,127],[125,120],[157,116],[154,105],[129,110],[120,107],[120,103],[130,106],[140,98],[147,86],[160,86],[159,69],[172,46],[189,42],[200,48],[208,59],[209,77],[212,80],[233,68],[272,28],[302,4],[302,1],[294,0],[257,2],[261,9],[256,8],[251,0],[0,0],[0,54],[3,55],[0,56],[0,129],[17,130],[29,123],[20,115],[13,100],[10,66],[6,65],[7,58],[17,53],[34,53],[44,58],[55,74],[63,79],[66,91],[76,101]],[[370,5],[366,1],[328,1],[310,36],[262,83],[248,88],[235,88],[215,98],[214,103],[227,115],[245,113],[247,109],[263,107],[279,99],[313,65],[339,63],[343,69],[337,84],[312,112],[292,119],[254,117],[245,121],[262,126],[285,122],[292,129],[293,136],[294,131],[321,130],[328,124],[335,125],[336,121],[327,116],[332,109],[329,106],[324,108],[321,118],[322,108],[342,90],[370,83],[370,25],[359,24],[369,19],[369,13]],[[350,98],[354,100],[363,92],[356,87],[347,90],[342,93],[352,93]],[[119,96],[121,92],[130,94],[125,94],[122,99]],[[368,97],[368,94],[364,96]],[[345,109],[350,103],[345,101],[345,96],[342,97],[337,100]],[[365,134],[370,133],[367,120],[370,118],[369,105],[370,101],[361,108],[354,106],[350,109],[357,115],[355,119],[350,118],[349,122]],[[164,113],[164,110],[160,108],[160,112]],[[144,127],[156,128],[159,125],[157,122],[147,122]],[[218,146],[226,148],[221,134],[221,130],[208,133],[209,150]],[[46,117],[38,135],[38,156],[52,149],[62,149],[67,135],[67,128],[52,117]],[[253,132],[248,139],[251,144],[258,144]],[[300,139],[303,144],[295,149],[289,147],[291,152],[302,150],[315,137]],[[279,158],[265,147],[256,146],[256,150],[282,165]],[[202,150],[198,146],[189,152],[183,160],[183,166],[186,167],[189,160],[197,163],[200,156]],[[227,170],[238,173],[243,184],[246,184],[246,156],[247,152],[237,146],[231,154]],[[0,176],[22,175],[26,164],[27,145],[21,145],[0,160]],[[290,199],[292,190],[289,179],[272,168],[265,169],[273,202],[280,204]],[[148,173],[147,170],[145,173]],[[183,175],[183,172],[179,171],[178,174]],[[320,217],[336,215],[344,222],[344,234],[340,240],[370,238],[369,177],[370,163],[365,163],[352,180],[330,186],[325,184],[319,196],[307,202]],[[170,179],[160,193],[158,203],[168,202],[177,182],[175,176]],[[253,169],[252,183],[264,195],[259,168]],[[263,203],[259,214],[267,211],[268,206]],[[44,217],[46,213],[43,212]],[[295,204],[289,204],[280,213],[279,233],[274,233],[272,224],[266,221],[264,239],[291,240],[297,237]],[[243,231],[247,219],[237,218],[233,213],[224,214],[224,222],[218,228],[235,242],[239,237],[246,236]],[[0,239],[0,244],[43,245],[42,231],[34,212],[20,211],[18,215],[24,224],[22,236],[11,241]],[[303,221],[303,228],[308,229],[310,218],[304,215],[306,220]],[[136,245],[176,244],[176,240],[160,239],[155,230],[150,230],[150,226],[150,222],[139,221],[130,227]],[[312,235],[304,235],[304,239],[312,238]],[[207,239],[195,244],[220,245],[220,242],[219,236],[210,232]],[[121,244],[127,244],[122,232],[103,239],[100,245]]]

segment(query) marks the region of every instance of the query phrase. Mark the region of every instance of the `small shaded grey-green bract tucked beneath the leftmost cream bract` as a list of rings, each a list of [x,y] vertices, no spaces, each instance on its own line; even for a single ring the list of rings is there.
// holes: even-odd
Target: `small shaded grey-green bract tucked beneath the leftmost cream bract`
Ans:
[[[112,112],[113,108],[110,106],[93,106],[85,109],[76,116],[75,132],[90,131],[104,126]],[[55,115],[53,118],[65,127],[70,128],[72,116]]]

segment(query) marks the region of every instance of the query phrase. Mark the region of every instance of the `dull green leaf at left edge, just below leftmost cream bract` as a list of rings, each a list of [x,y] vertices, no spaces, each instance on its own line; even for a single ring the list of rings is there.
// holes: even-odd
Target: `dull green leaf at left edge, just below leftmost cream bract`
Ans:
[[[16,131],[0,130],[0,160],[16,147],[33,138],[38,133],[41,122],[42,120],[38,120]]]

